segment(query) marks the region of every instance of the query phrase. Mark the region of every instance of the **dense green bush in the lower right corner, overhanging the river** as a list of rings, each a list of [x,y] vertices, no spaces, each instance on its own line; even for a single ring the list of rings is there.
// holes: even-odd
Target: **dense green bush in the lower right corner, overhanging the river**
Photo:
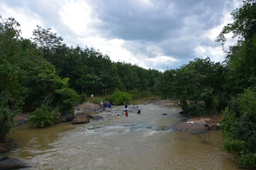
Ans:
[[[232,100],[221,123],[224,149],[236,153],[241,168],[256,166],[256,89],[248,88]]]

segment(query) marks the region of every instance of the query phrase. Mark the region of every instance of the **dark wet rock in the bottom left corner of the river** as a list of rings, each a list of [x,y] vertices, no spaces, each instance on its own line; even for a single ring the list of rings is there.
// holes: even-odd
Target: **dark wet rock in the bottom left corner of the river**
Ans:
[[[30,168],[30,166],[23,164],[17,159],[5,159],[0,161],[0,170],[5,169],[18,169],[18,168]]]

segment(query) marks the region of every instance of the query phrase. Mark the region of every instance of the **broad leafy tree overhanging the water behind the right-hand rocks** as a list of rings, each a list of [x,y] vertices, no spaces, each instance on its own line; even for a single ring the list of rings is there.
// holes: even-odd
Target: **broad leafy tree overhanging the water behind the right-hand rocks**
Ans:
[[[205,115],[221,109],[224,83],[223,66],[210,58],[195,58],[179,69],[166,70],[159,76],[155,88],[163,98],[173,100],[176,106],[191,115]]]

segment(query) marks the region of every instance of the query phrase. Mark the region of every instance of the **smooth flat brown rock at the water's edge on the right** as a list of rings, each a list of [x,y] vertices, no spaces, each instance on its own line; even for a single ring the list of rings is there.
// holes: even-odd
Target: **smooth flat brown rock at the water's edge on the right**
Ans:
[[[184,131],[193,134],[205,133],[207,129],[198,123],[181,122],[175,126],[179,131]]]

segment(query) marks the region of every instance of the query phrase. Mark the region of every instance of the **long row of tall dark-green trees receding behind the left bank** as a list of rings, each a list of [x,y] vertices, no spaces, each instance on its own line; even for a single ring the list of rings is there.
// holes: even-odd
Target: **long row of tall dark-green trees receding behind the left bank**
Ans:
[[[33,31],[33,44],[40,56],[54,65],[56,74],[69,78],[69,87],[78,94],[108,95],[116,88],[126,91],[153,90],[155,78],[160,72],[144,69],[125,62],[113,62],[93,48],[67,47],[63,38],[51,29],[37,26]]]

